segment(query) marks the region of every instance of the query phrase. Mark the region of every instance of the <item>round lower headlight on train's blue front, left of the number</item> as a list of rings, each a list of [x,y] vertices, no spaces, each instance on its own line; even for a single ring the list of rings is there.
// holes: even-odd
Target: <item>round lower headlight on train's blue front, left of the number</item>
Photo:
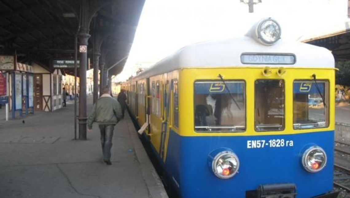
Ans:
[[[223,151],[218,153],[212,162],[214,174],[221,179],[233,177],[239,168],[239,160],[235,153]]]

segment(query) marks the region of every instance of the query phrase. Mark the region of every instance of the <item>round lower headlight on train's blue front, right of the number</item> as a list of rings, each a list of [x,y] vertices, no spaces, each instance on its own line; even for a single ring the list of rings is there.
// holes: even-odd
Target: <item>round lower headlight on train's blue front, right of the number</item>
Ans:
[[[312,146],[304,152],[302,163],[305,170],[316,173],[326,166],[327,155],[321,147]]]

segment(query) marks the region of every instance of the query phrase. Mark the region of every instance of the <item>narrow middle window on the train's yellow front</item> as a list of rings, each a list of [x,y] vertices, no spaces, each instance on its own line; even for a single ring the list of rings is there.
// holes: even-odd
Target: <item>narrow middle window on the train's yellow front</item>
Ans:
[[[285,127],[284,80],[255,81],[255,131],[282,131]]]

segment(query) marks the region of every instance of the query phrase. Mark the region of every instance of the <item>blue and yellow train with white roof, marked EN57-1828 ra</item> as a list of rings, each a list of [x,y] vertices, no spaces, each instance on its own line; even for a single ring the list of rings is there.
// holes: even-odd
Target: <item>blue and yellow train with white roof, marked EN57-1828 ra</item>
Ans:
[[[122,85],[181,197],[336,197],[334,58],[280,35],[267,18]]]

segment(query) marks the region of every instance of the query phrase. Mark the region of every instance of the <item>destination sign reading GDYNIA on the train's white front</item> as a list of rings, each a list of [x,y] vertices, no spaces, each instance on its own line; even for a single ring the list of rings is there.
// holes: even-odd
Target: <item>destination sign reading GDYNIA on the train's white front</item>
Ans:
[[[241,55],[243,64],[287,64],[295,63],[295,56],[292,54],[249,54]]]

